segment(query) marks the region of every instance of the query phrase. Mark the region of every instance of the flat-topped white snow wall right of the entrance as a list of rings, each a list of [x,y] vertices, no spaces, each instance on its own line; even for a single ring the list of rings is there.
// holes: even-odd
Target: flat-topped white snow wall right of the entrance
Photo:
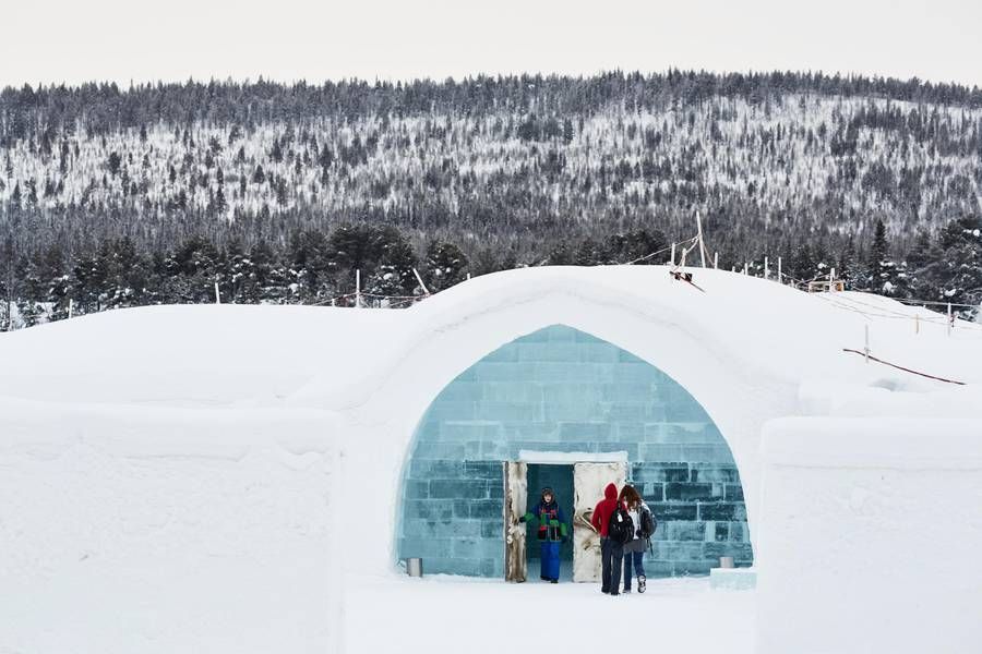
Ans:
[[[756,535],[758,651],[977,647],[980,443],[982,420],[768,423]]]

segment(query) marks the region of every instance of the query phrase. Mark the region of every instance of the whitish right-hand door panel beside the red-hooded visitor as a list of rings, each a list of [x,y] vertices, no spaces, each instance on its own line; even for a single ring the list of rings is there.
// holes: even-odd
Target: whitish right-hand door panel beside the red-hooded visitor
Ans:
[[[573,467],[573,581],[600,581],[600,534],[590,523],[603,489],[627,481],[626,463],[576,463]]]

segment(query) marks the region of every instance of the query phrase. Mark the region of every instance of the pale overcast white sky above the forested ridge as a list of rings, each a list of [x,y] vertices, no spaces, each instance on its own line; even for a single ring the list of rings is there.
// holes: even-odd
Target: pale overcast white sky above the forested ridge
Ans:
[[[0,85],[823,70],[982,86],[982,0],[0,0]]]

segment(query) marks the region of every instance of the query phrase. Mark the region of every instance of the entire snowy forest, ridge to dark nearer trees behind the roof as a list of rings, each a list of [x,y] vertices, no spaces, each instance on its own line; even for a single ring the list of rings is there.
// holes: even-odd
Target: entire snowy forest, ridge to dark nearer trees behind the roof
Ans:
[[[411,296],[692,235],[982,300],[982,90],[821,74],[0,92],[0,322]],[[661,263],[663,256],[644,263]],[[336,302],[338,300],[335,300]],[[346,302],[347,299],[340,299]]]

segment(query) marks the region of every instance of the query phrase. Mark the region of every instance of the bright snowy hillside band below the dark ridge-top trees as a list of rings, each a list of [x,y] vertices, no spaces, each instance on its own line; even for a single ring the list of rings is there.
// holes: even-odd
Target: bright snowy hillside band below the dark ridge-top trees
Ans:
[[[541,203],[550,222],[568,223],[595,221],[598,209],[657,215],[678,196],[707,192],[756,205],[765,227],[799,229],[826,227],[826,217],[797,218],[781,205],[815,211],[816,201],[835,202],[847,210],[841,227],[852,230],[901,206],[911,213],[897,216],[906,228],[979,208],[972,145],[982,109],[789,94],[764,106],[727,98],[700,107],[612,104],[575,118],[565,119],[565,133],[562,119],[538,124],[502,110],[64,134],[47,148],[21,141],[7,149],[0,199],[46,209],[124,208],[167,225],[170,214],[183,211],[242,220],[301,208],[338,217],[368,209],[395,218],[419,210],[422,191],[439,209],[410,220],[421,229],[456,227],[458,219],[474,225],[455,216],[489,199],[504,207],[514,193]],[[898,130],[909,133],[898,137]],[[715,217],[721,207],[709,202],[702,208]],[[522,222],[544,227],[530,215]],[[727,232],[736,229],[727,222],[720,220]]]

